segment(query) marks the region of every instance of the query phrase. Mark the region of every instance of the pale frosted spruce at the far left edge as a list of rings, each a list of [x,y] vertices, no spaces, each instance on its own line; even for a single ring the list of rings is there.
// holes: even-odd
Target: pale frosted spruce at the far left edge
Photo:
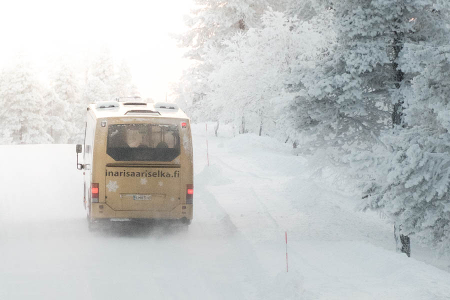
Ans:
[[[1,75],[1,128],[7,129],[12,143],[52,142],[44,119],[44,90],[28,63],[18,59]]]

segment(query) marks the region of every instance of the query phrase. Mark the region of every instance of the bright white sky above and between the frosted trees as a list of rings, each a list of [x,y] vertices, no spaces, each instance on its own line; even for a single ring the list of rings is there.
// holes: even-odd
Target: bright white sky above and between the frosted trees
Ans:
[[[169,34],[184,30],[191,6],[191,0],[2,1],[0,64],[21,51],[46,71],[61,56],[76,62],[107,46],[117,63],[128,63],[141,96],[163,100],[187,65]]]

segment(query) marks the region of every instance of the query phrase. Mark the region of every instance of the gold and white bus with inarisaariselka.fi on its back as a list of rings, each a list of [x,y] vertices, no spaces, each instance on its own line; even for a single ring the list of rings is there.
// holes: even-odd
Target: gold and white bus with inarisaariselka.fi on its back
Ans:
[[[175,103],[132,97],[89,104],[84,145],[76,145],[76,153],[89,229],[102,221],[190,224],[190,120]]]

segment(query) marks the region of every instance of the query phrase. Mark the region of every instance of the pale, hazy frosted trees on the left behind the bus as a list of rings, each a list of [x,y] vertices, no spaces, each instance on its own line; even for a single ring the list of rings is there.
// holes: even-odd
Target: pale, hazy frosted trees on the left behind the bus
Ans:
[[[82,143],[88,103],[137,94],[126,62],[108,49],[86,65],[61,62],[40,75],[20,54],[1,69],[0,144]]]

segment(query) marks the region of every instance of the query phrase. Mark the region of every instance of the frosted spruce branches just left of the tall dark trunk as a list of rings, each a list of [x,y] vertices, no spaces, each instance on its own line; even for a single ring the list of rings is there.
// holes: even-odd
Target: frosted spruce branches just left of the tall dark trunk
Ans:
[[[297,132],[310,136],[303,150],[322,149],[331,161],[342,161],[352,149],[370,149],[388,125],[394,2],[342,0],[328,8],[337,42],[292,76],[297,88],[292,117]]]

